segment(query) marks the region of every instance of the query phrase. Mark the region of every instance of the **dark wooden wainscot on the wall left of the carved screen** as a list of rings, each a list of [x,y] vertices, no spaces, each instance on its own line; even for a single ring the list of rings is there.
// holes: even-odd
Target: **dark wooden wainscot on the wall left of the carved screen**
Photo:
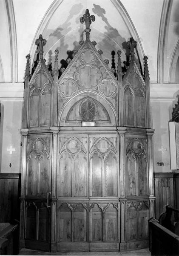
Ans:
[[[20,219],[20,173],[0,173],[0,222]]]

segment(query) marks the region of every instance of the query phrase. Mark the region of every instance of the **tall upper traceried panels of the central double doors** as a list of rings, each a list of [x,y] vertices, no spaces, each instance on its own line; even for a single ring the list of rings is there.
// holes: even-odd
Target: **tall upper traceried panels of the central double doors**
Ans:
[[[60,137],[59,196],[117,196],[116,138]],[[88,170],[89,159],[89,170]]]

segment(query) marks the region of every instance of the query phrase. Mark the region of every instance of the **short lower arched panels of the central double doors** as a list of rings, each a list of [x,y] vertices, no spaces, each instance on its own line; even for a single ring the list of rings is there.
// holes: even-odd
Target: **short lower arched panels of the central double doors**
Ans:
[[[118,251],[118,204],[57,203],[57,251]]]

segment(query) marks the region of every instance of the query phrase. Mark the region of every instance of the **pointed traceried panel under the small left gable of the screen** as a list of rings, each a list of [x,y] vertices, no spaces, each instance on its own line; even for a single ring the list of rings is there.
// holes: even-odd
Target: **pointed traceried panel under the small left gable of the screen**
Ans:
[[[29,127],[50,125],[51,84],[41,64],[29,85]]]

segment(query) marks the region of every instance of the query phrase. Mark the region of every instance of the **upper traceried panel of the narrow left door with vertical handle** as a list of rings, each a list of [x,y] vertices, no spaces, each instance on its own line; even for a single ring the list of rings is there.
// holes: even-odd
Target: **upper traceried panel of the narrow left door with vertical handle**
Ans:
[[[28,137],[26,195],[45,196],[51,191],[51,138]]]

